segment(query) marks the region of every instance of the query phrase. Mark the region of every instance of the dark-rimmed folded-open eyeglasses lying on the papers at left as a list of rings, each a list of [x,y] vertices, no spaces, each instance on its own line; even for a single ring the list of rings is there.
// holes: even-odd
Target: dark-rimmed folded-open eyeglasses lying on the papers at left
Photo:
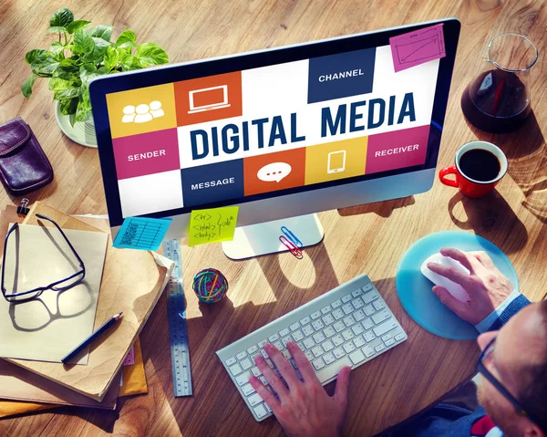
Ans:
[[[42,215],[42,214],[39,214],[39,213],[36,213],[36,217],[38,217],[40,219],[43,219],[43,220],[47,220],[48,222],[51,222],[52,224],[55,225],[55,227],[57,228],[57,231],[59,233],[61,233],[61,235],[63,236],[63,238],[67,242],[68,247],[70,247],[70,250],[72,251],[72,254],[76,257],[77,263],[79,264],[79,269],[73,275],[67,276],[64,279],[60,279],[56,282],[52,282],[48,286],[39,286],[39,287],[34,288],[32,290],[22,291],[22,292],[15,292],[15,293],[14,293],[14,290],[12,289],[11,293],[8,294],[7,290],[5,289],[5,259],[6,259],[6,252],[7,252],[7,242],[8,242],[9,236],[11,234],[13,234],[14,231],[16,229],[18,229],[18,227],[19,227],[18,224],[13,224],[12,227],[7,232],[7,234],[5,235],[4,262],[3,262],[4,265],[2,266],[2,283],[0,285],[1,288],[2,288],[2,294],[4,295],[5,300],[7,300],[8,302],[13,302],[13,303],[27,302],[29,300],[35,299],[36,297],[39,297],[46,290],[52,290],[52,291],[56,291],[56,292],[65,291],[69,288],[72,288],[73,286],[77,286],[77,284],[79,284],[84,279],[84,277],[86,276],[86,266],[84,265],[84,262],[82,261],[80,256],[77,255],[76,249],[70,243],[70,241],[67,238],[67,235],[63,232],[63,230],[55,222],[55,220],[50,219],[49,217],[46,217],[46,215]],[[46,228],[47,232],[49,232],[48,231],[49,229],[52,229],[52,228]],[[15,288],[15,286],[14,286],[14,288]]]

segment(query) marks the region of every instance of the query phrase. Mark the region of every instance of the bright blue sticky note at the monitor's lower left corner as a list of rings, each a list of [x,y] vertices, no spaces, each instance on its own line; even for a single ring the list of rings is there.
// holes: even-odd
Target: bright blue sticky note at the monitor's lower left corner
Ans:
[[[158,250],[171,221],[170,218],[128,217],[123,221],[113,246],[120,249]]]

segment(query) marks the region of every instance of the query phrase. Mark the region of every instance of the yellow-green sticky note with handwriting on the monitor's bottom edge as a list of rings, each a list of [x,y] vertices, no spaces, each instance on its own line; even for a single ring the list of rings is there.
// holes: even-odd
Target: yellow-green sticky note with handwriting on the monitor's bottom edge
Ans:
[[[188,245],[233,240],[239,206],[195,210],[190,215]]]

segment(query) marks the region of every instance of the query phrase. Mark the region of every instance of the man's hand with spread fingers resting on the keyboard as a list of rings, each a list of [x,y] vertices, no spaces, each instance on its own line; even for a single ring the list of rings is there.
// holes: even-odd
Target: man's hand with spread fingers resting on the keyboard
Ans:
[[[264,345],[264,350],[274,362],[275,368],[278,369],[285,383],[273,369],[270,369],[261,356],[257,356],[254,362],[277,393],[277,398],[254,376],[249,380],[253,389],[274,411],[275,417],[290,437],[340,435],[346,415],[350,368],[345,367],[338,373],[335,394],[331,398],[317,380],[312,365],[298,345],[291,341],[287,344],[287,349],[293,356],[303,380],[298,378],[293,366],[281,352],[274,345],[267,343]]]

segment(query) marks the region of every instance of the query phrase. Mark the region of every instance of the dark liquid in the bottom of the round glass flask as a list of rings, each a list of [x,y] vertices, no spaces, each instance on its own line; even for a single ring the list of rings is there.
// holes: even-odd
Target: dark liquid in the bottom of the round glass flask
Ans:
[[[463,115],[487,132],[515,130],[530,114],[528,90],[514,73],[486,71],[473,80],[461,96]]]

